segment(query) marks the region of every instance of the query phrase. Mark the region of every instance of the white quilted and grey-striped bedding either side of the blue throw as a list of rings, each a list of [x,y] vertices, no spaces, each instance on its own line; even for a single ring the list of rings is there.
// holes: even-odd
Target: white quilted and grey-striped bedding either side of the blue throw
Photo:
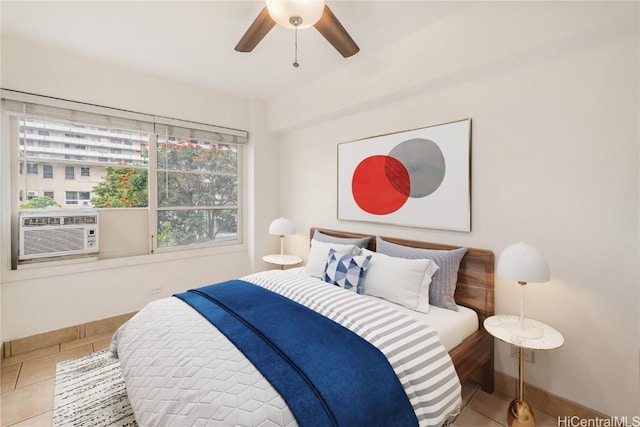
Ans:
[[[429,326],[303,274],[272,270],[242,279],[306,305],[378,347],[421,426],[441,426],[459,411],[459,379]],[[253,364],[178,298],[145,306],[116,332],[111,351],[120,358],[141,426],[297,425]]]

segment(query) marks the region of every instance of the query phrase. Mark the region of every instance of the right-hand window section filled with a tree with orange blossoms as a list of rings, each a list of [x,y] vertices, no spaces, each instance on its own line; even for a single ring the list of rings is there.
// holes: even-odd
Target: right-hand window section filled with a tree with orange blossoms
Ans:
[[[157,136],[158,247],[238,238],[238,146]]]

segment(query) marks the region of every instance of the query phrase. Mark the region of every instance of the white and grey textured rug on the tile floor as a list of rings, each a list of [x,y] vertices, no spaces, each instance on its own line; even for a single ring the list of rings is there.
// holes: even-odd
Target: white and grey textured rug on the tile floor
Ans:
[[[53,427],[137,426],[118,359],[107,350],[58,363]]]

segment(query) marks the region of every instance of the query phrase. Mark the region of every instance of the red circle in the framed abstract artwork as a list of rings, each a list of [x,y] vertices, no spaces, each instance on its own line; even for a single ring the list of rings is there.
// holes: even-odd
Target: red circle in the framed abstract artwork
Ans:
[[[393,213],[405,204],[411,193],[409,172],[393,157],[367,157],[353,173],[351,192],[363,211],[373,215]]]

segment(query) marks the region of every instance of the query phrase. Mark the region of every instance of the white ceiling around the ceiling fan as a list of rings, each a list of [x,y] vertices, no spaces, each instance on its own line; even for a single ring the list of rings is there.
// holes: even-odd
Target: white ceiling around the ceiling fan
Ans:
[[[234,47],[263,1],[0,2],[2,36],[26,39],[246,97],[269,99],[380,50],[468,5],[329,0],[360,52],[340,54],[315,28],[274,27],[252,53]]]

